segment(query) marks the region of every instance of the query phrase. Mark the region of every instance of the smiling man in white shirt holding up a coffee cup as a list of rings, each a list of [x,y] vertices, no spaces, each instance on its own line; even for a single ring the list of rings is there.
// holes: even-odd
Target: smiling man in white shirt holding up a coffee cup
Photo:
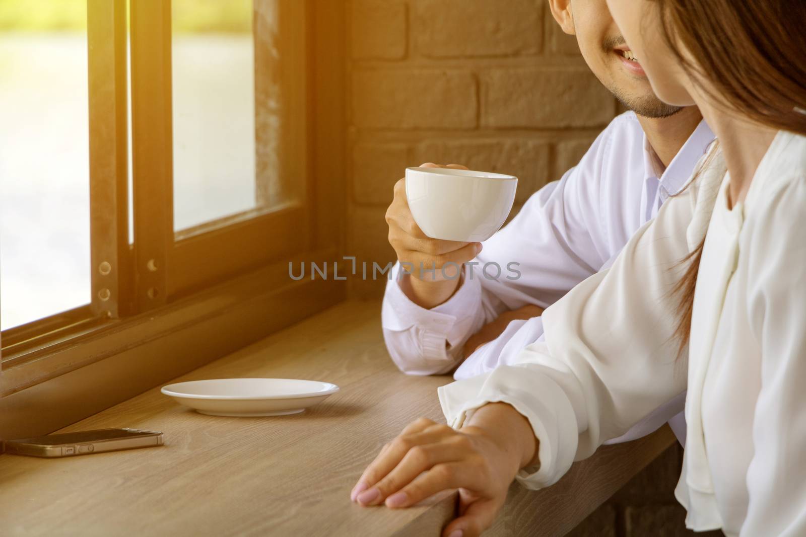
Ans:
[[[542,337],[542,308],[609,266],[632,234],[683,188],[713,141],[698,109],[654,96],[605,0],[549,4],[563,31],[576,35],[592,72],[630,111],[613,119],[577,166],[535,192],[484,242],[483,252],[478,243],[427,238],[406,204],[405,180],[398,181],[386,215],[398,262],[386,286],[382,324],[388,351],[405,373],[455,370],[459,380],[514,363]],[[401,262],[412,263],[412,275],[399,274]],[[451,274],[450,262],[462,266],[459,277]],[[502,272],[490,279],[482,271],[489,262],[501,268],[517,262],[520,276],[507,279]],[[421,263],[437,270],[420,272]],[[448,267],[444,275],[442,266]],[[684,444],[683,398],[609,443],[646,435],[674,416],[671,427]]]

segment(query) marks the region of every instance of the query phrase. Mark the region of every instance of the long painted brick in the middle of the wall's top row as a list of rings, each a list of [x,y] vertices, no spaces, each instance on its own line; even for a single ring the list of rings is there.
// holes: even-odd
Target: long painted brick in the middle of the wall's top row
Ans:
[[[540,52],[544,0],[414,0],[413,39],[422,56]]]

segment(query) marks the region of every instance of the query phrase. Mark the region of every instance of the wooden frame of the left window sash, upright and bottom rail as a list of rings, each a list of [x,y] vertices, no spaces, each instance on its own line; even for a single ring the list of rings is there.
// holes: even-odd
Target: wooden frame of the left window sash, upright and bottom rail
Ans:
[[[86,12],[89,303],[3,330],[0,382],[2,370],[26,361],[31,350],[133,313],[127,301],[132,278],[127,240],[126,0],[87,0]],[[2,393],[0,390],[0,396]]]

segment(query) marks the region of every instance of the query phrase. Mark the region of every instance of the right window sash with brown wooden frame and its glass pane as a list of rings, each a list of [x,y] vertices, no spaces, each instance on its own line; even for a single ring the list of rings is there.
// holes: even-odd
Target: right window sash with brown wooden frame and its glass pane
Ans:
[[[307,69],[301,68],[307,65],[306,2],[255,0],[251,46],[238,34],[224,39],[182,31],[172,39],[171,29],[188,27],[187,19],[204,5],[174,2],[172,13],[168,2],[132,3],[135,294],[141,311],[310,248],[310,97]],[[243,28],[243,19],[242,12],[233,26]],[[217,67],[226,70],[215,76]],[[235,85],[237,77],[254,89]],[[193,88],[200,84],[206,89]],[[245,118],[250,110],[251,121]],[[237,164],[227,165],[227,159]],[[196,187],[188,188],[189,181]],[[217,196],[226,197],[226,205],[216,203]]]

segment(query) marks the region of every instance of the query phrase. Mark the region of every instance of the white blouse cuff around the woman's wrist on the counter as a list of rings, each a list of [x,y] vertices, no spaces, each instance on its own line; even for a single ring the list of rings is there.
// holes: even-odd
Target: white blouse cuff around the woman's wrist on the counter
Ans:
[[[437,388],[442,413],[459,429],[487,403],[509,403],[529,420],[538,439],[538,465],[518,470],[515,479],[527,489],[559,481],[573,462],[578,442],[576,419],[562,389],[532,366],[498,366],[486,374]]]

